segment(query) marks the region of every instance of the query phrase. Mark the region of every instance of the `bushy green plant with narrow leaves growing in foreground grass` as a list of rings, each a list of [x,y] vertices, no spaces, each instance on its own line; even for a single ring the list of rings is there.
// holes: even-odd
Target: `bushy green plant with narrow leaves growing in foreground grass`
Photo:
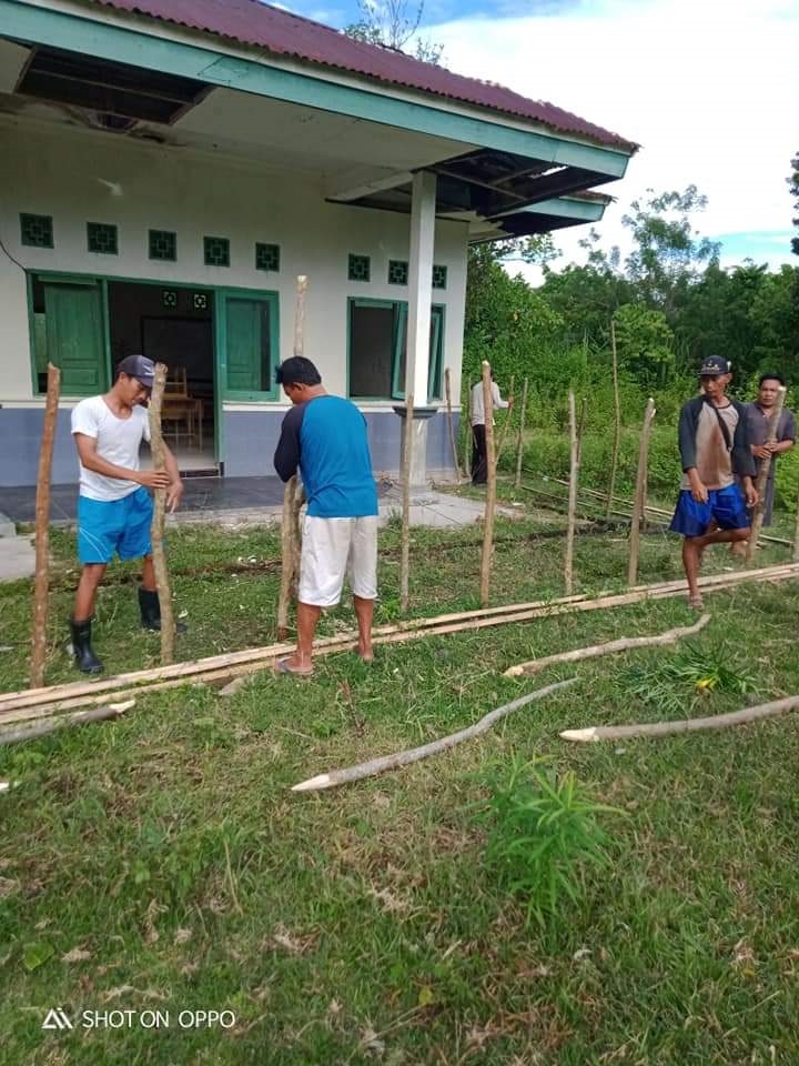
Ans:
[[[514,758],[487,781],[481,821],[488,824],[486,861],[505,887],[525,901],[527,921],[545,926],[585,894],[586,866],[605,866],[608,836],[595,803],[574,773],[558,776],[542,761]]]

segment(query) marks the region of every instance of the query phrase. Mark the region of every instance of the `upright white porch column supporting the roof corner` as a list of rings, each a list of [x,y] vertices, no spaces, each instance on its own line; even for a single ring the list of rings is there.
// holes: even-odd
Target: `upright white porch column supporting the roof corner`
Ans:
[[[436,175],[414,174],[408,258],[407,353],[405,395],[413,392],[414,406],[427,405],[433,253],[435,244]]]

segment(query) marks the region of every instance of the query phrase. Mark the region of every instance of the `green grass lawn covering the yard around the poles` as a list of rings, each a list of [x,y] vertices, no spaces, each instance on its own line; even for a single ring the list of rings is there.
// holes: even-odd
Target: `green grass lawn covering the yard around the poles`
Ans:
[[[563,594],[562,530],[534,511],[497,523],[494,603]],[[478,537],[414,531],[415,614],[477,606]],[[52,543],[55,683],[74,677],[62,638],[77,570],[73,536]],[[180,657],[273,638],[279,549],[274,530],[172,533],[190,626]],[[762,562],[787,555],[769,547]],[[708,571],[727,565],[709,553]],[[677,539],[648,534],[641,580],[679,574]],[[578,591],[623,587],[624,533],[580,535],[576,575]],[[158,662],[133,577],[117,565],[101,594],[109,672]],[[394,527],[381,581],[382,623],[398,613]],[[331,655],[311,680],[265,673],[227,700],[204,686],[141,695],[117,723],[0,748],[0,781],[19,782],[0,793],[0,1063],[799,1063],[799,716],[623,745],[557,735],[799,692],[799,583],[707,602],[712,621],[691,646],[749,676],[746,695],[663,680],[672,648],[500,676],[537,654],[688,624],[670,600],[388,645],[371,668]],[[0,586],[3,691],[24,687],[29,619],[30,584]],[[352,621],[342,607],[322,630]],[[572,674],[572,688],[449,754],[289,791]],[[618,812],[599,816],[608,865],[578,863],[581,894],[544,925],[486,862],[475,811],[489,773],[536,756]],[[50,1007],[75,1027],[42,1030]],[[235,1023],[178,1024],[180,1010],[212,1009]],[[170,1026],[79,1024],[108,1010],[169,1012]]]

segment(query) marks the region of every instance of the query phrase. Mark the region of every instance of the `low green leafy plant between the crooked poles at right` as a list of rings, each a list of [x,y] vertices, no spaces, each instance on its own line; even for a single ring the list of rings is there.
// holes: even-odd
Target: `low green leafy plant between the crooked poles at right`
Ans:
[[[627,695],[657,706],[666,714],[680,714],[686,697],[692,706],[711,692],[731,692],[744,695],[755,692],[757,680],[745,670],[725,662],[722,650],[701,652],[687,647],[670,662],[655,668],[631,666],[624,671],[618,687]]]

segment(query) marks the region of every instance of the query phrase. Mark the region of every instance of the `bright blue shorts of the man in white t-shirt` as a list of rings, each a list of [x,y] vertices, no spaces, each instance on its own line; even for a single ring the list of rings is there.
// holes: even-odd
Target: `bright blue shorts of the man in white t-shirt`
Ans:
[[[144,487],[121,500],[91,500],[78,496],[78,559],[87,563],[110,563],[141,559],[152,553],[150,523],[152,496]]]

